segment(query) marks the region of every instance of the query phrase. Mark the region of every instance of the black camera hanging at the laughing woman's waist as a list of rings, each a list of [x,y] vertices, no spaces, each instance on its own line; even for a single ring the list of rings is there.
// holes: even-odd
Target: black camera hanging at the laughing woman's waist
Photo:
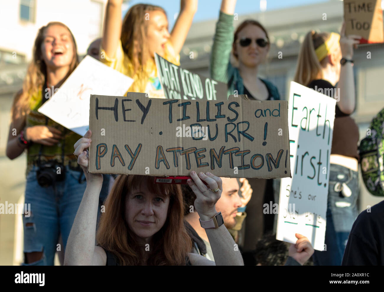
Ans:
[[[40,162],[36,177],[41,187],[49,187],[55,182],[65,180],[65,167],[57,162]]]

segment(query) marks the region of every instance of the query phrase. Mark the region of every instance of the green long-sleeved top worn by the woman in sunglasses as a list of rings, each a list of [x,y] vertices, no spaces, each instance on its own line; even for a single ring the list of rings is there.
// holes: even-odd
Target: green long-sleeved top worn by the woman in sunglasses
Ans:
[[[233,67],[229,61],[232,43],[233,15],[220,11],[210,57],[210,72],[214,80],[227,83],[228,96],[234,94],[235,90],[237,94],[244,94],[243,78],[238,68]],[[271,99],[280,100],[277,87],[267,80],[261,78],[260,80],[265,83]]]

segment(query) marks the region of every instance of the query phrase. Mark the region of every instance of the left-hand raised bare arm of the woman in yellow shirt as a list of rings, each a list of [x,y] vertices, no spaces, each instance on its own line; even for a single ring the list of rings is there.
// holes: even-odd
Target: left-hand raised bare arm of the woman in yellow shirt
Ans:
[[[121,4],[122,0],[108,0],[107,8],[105,10],[101,46],[107,56],[111,59],[115,57],[121,36]]]

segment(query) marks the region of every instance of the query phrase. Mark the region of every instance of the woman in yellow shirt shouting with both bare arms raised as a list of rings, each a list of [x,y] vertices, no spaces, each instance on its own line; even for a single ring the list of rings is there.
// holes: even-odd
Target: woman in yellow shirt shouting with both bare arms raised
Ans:
[[[180,65],[184,45],[197,0],[182,0],[172,32],[163,8],[149,4],[132,6],[121,21],[122,0],[109,0],[106,8],[101,62],[134,79],[129,92],[146,92],[164,98],[154,61],[154,53]]]

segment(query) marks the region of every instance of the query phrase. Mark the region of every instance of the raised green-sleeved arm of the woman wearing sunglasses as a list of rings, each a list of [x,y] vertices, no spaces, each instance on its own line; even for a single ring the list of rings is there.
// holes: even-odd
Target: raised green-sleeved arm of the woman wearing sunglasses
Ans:
[[[222,0],[220,15],[216,23],[214,44],[210,57],[211,77],[228,82],[228,65],[233,42],[233,13],[236,0]]]

